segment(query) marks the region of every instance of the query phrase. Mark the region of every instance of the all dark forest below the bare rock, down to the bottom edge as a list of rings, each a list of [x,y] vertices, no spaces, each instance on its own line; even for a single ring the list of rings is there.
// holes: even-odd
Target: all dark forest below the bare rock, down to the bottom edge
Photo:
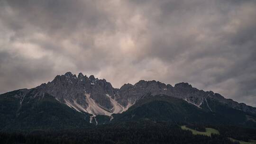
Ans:
[[[22,92],[22,91],[21,91]],[[256,140],[256,126],[247,117],[256,117],[211,101],[213,111],[198,108],[183,99],[165,95],[145,97],[121,114],[80,113],[45,94],[34,99],[31,90],[20,105],[11,96],[0,97],[0,144],[238,144],[229,138]],[[209,99],[210,101],[210,99]],[[193,135],[186,125],[204,132],[206,127],[219,135]],[[251,128],[250,128],[251,127]]]

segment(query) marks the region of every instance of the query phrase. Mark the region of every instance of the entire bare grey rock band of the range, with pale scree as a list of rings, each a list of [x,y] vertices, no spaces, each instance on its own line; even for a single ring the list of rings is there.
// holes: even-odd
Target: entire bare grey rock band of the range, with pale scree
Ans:
[[[256,114],[254,107],[235,102],[232,99],[225,99],[212,91],[198,90],[184,82],[177,83],[173,87],[159,81],[141,80],[134,85],[124,84],[120,89],[115,89],[105,79],[100,80],[93,75],[88,78],[82,73],[76,76],[71,72],[66,72],[64,75],[57,75],[53,81],[47,84],[43,83],[30,90],[19,90],[16,97],[22,102],[24,95],[31,90],[37,91],[34,93],[34,97],[43,97],[47,93],[70,108],[94,116],[110,116],[113,113],[121,113],[146,95],[159,94],[184,99],[199,108],[213,112],[216,112],[216,108],[213,108],[216,107],[214,101],[218,101],[225,106]]]

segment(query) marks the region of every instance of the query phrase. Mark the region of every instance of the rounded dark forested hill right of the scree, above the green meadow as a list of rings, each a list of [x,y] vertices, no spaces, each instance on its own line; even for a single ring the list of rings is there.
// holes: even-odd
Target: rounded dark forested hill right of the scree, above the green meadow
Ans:
[[[220,108],[220,106],[218,108]],[[223,106],[221,108],[222,113],[217,113],[197,107],[183,99],[177,99],[167,95],[147,96],[143,99],[139,99],[127,111],[121,114],[113,114],[114,119],[111,122],[148,119],[152,121],[171,121],[174,123],[223,124],[256,127],[254,122],[247,120],[246,113],[229,107]],[[256,118],[254,116],[251,117]]]

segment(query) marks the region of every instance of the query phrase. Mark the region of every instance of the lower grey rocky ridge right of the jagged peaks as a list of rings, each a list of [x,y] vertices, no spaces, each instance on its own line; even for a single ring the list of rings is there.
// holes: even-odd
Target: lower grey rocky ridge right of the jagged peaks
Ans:
[[[170,84],[165,85],[159,81],[142,80],[137,82],[135,85],[123,85],[115,94],[115,98],[124,107],[129,107],[146,94],[151,94],[153,96],[158,94],[169,95],[175,98],[184,99],[188,103],[191,103],[199,108],[202,108],[201,105],[203,104],[206,106],[204,108],[210,111],[213,111],[213,109],[210,108],[210,105],[214,104],[210,104],[208,101],[218,101],[225,106],[242,110],[250,114],[256,114],[256,108],[254,107],[247,106],[244,103],[238,103],[232,99],[225,99],[220,94],[214,93],[212,91],[198,90],[193,88],[190,84],[184,82],[177,83],[173,87]]]

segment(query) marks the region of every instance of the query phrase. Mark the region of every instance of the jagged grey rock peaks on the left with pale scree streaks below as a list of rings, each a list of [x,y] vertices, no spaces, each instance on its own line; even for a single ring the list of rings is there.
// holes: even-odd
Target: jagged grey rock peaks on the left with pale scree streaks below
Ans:
[[[40,95],[46,92],[77,111],[95,115],[111,115],[112,112],[122,111],[117,111],[112,104],[111,97],[115,94],[112,85],[104,79],[95,79],[93,75],[88,78],[79,73],[76,77],[75,74],[66,72],[35,89],[40,91]]]

